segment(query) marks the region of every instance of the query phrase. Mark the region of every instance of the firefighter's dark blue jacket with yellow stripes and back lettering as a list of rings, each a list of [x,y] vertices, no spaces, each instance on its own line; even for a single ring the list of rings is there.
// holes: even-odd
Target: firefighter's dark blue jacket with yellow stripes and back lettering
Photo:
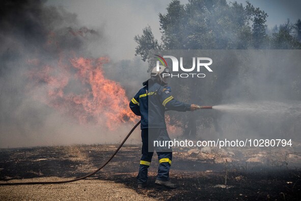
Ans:
[[[141,116],[141,129],[166,128],[166,109],[180,112],[190,110],[190,105],[174,99],[169,86],[163,86],[151,79],[143,85],[129,103],[133,113]]]

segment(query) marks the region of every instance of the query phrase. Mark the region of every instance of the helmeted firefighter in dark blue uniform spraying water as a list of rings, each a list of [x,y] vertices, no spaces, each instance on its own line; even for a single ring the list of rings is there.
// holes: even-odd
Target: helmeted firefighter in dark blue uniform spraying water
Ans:
[[[155,184],[176,188],[176,185],[169,180],[172,149],[167,146],[154,147],[153,142],[154,140],[170,140],[165,122],[166,110],[185,112],[200,109],[198,105],[188,105],[176,101],[163,73],[169,74],[169,68],[159,66],[159,71],[157,71],[157,67],[154,67],[151,71],[151,78],[143,83],[144,87],[136,93],[129,103],[132,112],[141,116],[142,157],[137,176],[138,188],[146,186],[148,168],[154,150],[156,150],[159,160]]]

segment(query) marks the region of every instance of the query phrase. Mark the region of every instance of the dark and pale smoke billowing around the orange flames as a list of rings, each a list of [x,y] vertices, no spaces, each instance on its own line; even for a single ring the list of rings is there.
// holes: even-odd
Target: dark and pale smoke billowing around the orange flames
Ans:
[[[128,130],[132,123],[122,124],[121,127],[114,125],[114,131],[108,131],[106,124],[101,123],[102,119],[97,119],[98,123],[81,124],[70,115],[73,112],[71,109],[63,111],[55,107],[64,105],[64,98],[55,99],[56,103],[49,99],[49,83],[54,82],[53,78],[58,83],[64,83],[66,69],[73,77],[68,78],[68,84],[64,83],[62,88],[55,86],[53,91],[62,89],[61,93],[79,97],[85,90],[91,91],[89,83],[76,79],[77,69],[72,67],[70,60],[91,59],[88,47],[92,43],[105,47],[108,44],[102,30],[80,26],[75,14],[62,8],[46,7],[44,3],[1,3],[0,147],[120,141],[121,131]],[[98,54],[99,57],[107,56],[105,48]],[[107,65],[112,66],[110,58],[108,60]],[[45,67],[50,68],[48,74],[45,74]],[[40,78],[37,79],[37,76]],[[116,86],[119,86],[118,83]],[[114,90],[118,93],[118,90],[124,89],[119,87]],[[103,93],[105,95],[106,92]],[[98,117],[101,118],[101,115]],[[89,121],[89,117],[87,119]],[[124,117],[123,121],[126,120]]]

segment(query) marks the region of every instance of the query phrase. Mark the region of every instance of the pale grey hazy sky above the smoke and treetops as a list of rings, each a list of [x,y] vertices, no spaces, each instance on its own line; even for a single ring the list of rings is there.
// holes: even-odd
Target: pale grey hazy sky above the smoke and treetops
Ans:
[[[170,2],[171,0],[49,0],[47,5],[62,6],[67,11],[77,14],[80,24],[104,30],[107,43],[110,45],[106,47],[107,54],[111,58],[132,59],[136,46],[133,37],[137,34],[141,35],[142,29],[148,24],[155,37],[160,39],[158,13],[166,13],[166,7]],[[181,1],[182,4],[187,2]],[[228,2],[234,1],[228,0]],[[237,0],[237,2],[245,5],[244,0]],[[267,12],[269,28],[284,23],[287,18],[292,22],[301,18],[299,0],[250,0],[250,3]],[[97,48],[95,51],[97,52]],[[99,52],[103,52],[103,47],[99,47]]]

